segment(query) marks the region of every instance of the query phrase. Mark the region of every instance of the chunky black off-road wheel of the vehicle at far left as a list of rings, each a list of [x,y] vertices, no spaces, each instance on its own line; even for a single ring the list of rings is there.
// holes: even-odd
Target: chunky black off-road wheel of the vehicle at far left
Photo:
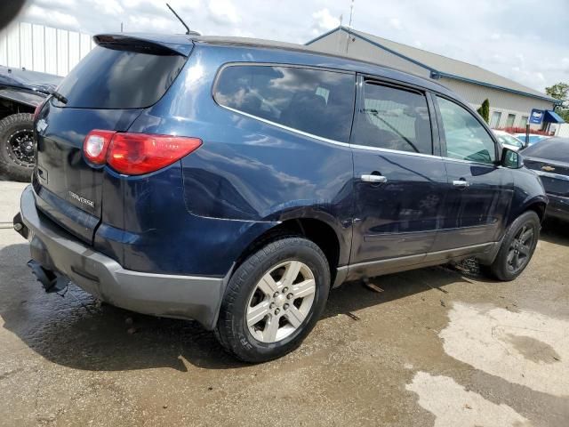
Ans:
[[[34,116],[13,114],[0,120],[0,171],[29,182],[34,169]]]

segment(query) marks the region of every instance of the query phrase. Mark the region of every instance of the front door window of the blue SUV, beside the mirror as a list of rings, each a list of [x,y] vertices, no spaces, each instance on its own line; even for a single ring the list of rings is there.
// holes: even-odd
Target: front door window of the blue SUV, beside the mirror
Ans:
[[[483,125],[460,105],[437,97],[446,141],[446,157],[480,163],[496,160],[494,141]]]

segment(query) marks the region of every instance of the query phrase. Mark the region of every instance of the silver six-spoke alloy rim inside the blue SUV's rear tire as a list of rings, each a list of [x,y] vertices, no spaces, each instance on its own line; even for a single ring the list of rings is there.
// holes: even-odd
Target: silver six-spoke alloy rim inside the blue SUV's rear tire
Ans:
[[[278,342],[293,334],[309,315],[316,280],[300,261],[282,262],[260,278],[247,304],[245,321],[260,342]]]

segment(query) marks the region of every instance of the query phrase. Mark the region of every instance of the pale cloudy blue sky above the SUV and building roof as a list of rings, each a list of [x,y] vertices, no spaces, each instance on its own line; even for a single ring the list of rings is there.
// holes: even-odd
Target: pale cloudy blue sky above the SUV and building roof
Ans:
[[[205,35],[305,43],[349,20],[350,0],[170,0]],[[183,32],[156,0],[29,0],[19,18],[89,34]],[[352,26],[543,91],[569,83],[569,0],[355,0]]]

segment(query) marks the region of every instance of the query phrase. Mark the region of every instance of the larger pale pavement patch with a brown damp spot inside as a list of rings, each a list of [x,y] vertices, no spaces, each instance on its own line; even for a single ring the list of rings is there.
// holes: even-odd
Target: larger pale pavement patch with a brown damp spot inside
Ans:
[[[569,396],[569,321],[454,303],[439,336],[454,359],[533,391]]]

